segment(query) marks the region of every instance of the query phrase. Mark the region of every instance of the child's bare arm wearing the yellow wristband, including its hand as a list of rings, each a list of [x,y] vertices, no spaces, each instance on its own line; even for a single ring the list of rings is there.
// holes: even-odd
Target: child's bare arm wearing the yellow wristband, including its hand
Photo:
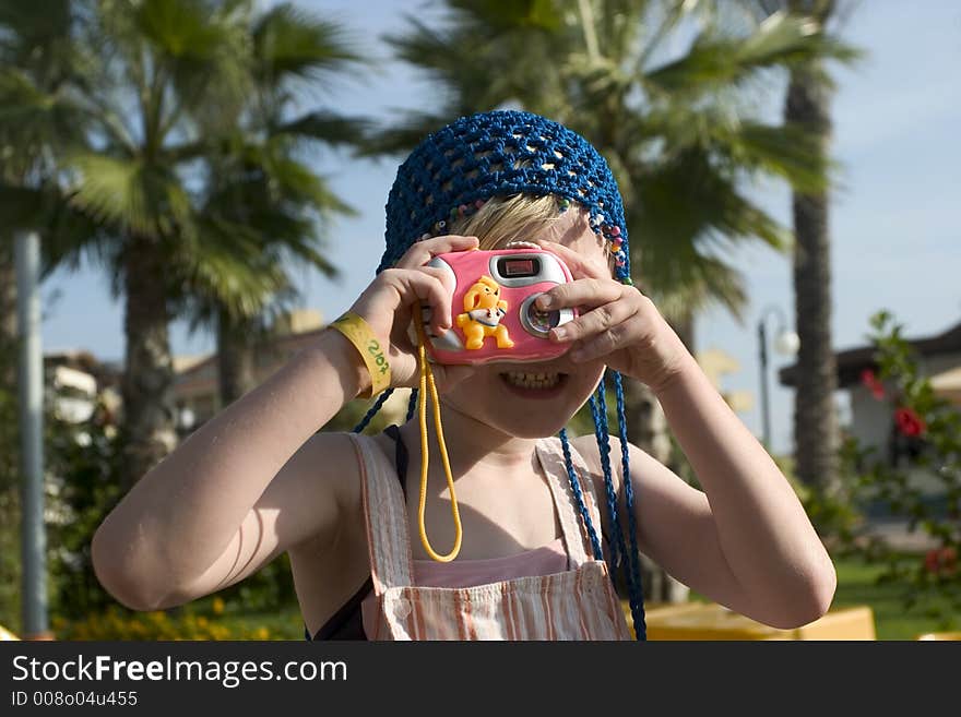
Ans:
[[[406,337],[415,303],[435,309],[434,333],[450,316],[450,279],[423,265],[476,244],[453,235],[418,242],[352,307],[389,347],[391,385],[413,385],[416,377]],[[472,370],[434,369],[441,390]],[[354,345],[323,332],[194,431],[117,504],[93,538],[100,583],[124,605],[159,609],[227,587],[307,539],[330,545],[341,517],[359,506],[357,462],[345,435],[315,432],[369,385]]]

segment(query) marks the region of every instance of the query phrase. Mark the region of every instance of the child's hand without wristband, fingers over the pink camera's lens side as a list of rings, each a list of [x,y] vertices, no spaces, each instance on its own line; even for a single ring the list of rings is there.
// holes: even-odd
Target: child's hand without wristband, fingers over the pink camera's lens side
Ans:
[[[546,240],[537,244],[560,256],[574,277],[537,299],[542,310],[578,308],[577,319],[550,330],[551,340],[572,344],[568,355],[572,361],[602,359],[655,392],[680,373],[690,354],[640,289],[615,280],[607,266],[563,244]],[[544,303],[547,297],[549,307]]]

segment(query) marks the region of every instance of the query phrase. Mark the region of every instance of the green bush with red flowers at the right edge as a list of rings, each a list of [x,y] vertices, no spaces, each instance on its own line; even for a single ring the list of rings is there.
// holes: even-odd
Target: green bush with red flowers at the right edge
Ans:
[[[861,381],[890,406],[889,450],[843,441],[854,517],[835,535],[847,551],[886,565],[881,579],[904,586],[905,609],[924,607],[951,629],[961,613],[961,411],[935,394],[890,313],[875,314],[871,327],[877,370],[863,371]],[[894,550],[870,530],[868,511],[900,519],[933,547],[916,555]]]

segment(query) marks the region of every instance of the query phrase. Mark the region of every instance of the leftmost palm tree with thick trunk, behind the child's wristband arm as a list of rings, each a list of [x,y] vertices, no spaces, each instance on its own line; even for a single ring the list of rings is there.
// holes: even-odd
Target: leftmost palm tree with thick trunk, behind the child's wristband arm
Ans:
[[[66,249],[106,265],[126,300],[127,482],[176,443],[168,323],[179,287],[169,279],[212,253],[194,189],[206,146],[195,140],[233,117],[249,89],[249,13],[244,2],[109,0],[83,38],[97,50],[91,81],[78,86],[96,142],[69,158],[71,202],[104,231]]]

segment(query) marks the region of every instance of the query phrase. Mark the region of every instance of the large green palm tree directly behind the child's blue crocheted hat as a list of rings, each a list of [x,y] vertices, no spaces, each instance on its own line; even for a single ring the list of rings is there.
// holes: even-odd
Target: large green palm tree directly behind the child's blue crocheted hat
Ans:
[[[696,7],[448,0],[436,26],[411,17],[406,33],[389,38],[437,81],[436,109],[410,113],[376,148],[410,147],[453,116],[505,104],[578,131],[620,184],[634,276],[693,351],[693,319],[707,306],[741,318],[744,279],[725,251],[743,241],[788,243],[784,227],[745,194],[746,180],[773,176],[811,192],[824,183],[817,139],[804,127],[754,119],[745,89],[772,68],[846,56],[802,17],[774,15],[732,36]],[[671,44],[690,35],[687,51],[668,59]],[[626,382],[626,394],[630,440],[669,464],[656,401],[637,382]],[[650,597],[671,598],[665,589]]]

